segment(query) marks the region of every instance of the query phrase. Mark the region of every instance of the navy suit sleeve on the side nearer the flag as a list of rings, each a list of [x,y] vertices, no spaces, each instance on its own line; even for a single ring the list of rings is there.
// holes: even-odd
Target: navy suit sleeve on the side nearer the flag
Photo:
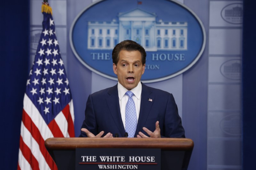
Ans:
[[[92,95],[89,95],[87,103],[86,103],[85,119],[84,119],[81,129],[82,128],[88,129],[95,136],[98,134],[97,123],[96,123],[96,119],[95,119],[95,113],[94,113],[93,102],[92,102]],[[86,133],[81,131],[81,134],[79,137],[87,137],[87,135],[86,135]]]

